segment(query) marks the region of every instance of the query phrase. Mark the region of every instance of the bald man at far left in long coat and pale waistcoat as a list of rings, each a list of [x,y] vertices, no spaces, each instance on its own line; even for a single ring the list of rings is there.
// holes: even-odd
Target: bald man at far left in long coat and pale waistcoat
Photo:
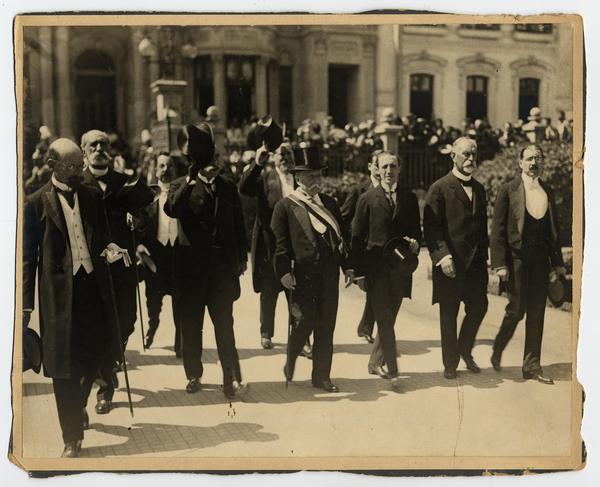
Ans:
[[[79,147],[57,139],[47,157],[52,179],[25,200],[23,326],[34,307],[37,272],[44,374],[52,378],[65,442],[62,456],[77,457],[98,367],[120,345],[104,257],[113,265],[131,262],[126,250],[109,243],[102,193],[81,184]]]

